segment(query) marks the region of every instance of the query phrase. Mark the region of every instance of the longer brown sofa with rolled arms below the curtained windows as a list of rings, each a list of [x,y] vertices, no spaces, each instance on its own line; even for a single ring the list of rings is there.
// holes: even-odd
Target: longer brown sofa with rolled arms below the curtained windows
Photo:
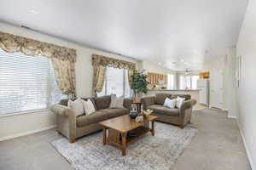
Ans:
[[[55,112],[57,116],[57,131],[66,136],[70,143],[86,134],[101,130],[102,127],[98,122],[128,114],[131,107],[131,99],[124,100],[122,109],[109,109],[110,96],[87,99],[91,99],[96,108],[96,112],[88,116],[75,116],[73,110],[67,108],[68,99],[62,99],[59,105],[54,105],[51,108],[51,111]]]

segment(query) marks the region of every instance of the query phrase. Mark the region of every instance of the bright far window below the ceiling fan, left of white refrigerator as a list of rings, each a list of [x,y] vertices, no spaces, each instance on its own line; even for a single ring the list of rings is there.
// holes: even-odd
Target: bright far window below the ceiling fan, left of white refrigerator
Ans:
[[[180,75],[179,89],[197,89],[198,75]]]

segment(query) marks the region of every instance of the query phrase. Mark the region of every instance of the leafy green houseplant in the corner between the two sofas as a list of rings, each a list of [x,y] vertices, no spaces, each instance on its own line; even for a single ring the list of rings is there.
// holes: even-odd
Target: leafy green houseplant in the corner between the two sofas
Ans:
[[[131,76],[131,89],[133,90],[133,99],[136,101],[138,98],[138,95],[144,93],[146,94],[148,91],[148,81],[147,81],[148,75],[144,73],[144,71],[137,71],[134,70],[133,74]]]

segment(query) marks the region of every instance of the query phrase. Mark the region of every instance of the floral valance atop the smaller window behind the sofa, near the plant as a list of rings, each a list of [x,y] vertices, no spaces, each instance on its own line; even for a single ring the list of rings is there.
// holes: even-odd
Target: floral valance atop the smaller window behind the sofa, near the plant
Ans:
[[[129,70],[134,70],[136,68],[135,63],[131,63],[128,61],[120,60],[120,59],[113,59],[108,58],[102,55],[92,54],[92,65],[99,66],[102,65],[104,67],[111,66],[114,68],[125,68]]]

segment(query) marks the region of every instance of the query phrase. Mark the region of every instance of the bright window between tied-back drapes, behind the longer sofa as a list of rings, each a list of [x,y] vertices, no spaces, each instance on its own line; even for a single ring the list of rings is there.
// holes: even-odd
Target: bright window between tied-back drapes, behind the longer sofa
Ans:
[[[131,88],[128,81],[127,69],[107,67],[106,78],[101,93],[98,96],[116,94],[117,97],[124,95],[131,97]]]

